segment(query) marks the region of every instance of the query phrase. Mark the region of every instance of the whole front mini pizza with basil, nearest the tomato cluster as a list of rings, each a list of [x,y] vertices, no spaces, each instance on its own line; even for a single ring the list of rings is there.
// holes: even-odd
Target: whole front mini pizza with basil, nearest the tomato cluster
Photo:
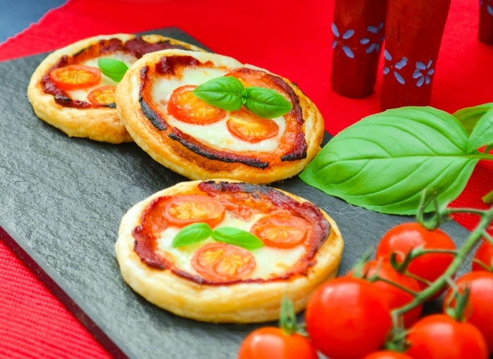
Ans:
[[[147,301],[204,322],[277,320],[335,277],[344,243],[313,203],[262,184],[181,182],[123,215],[116,258]]]

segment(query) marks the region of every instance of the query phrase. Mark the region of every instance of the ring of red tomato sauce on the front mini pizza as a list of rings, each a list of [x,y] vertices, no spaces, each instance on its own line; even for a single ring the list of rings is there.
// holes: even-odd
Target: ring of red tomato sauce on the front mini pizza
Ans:
[[[182,195],[182,194],[180,194]],[[330,224],[325,220],[319,208],[308,202],[298,202],[272,187],[247,184],[243,182],[201,182],[195,189],[183,195],[206,196],[224,206],[232,218],[248,221],[254,215],[269,215],[275,211],[289,213],[309,224],[307,237],[303,244],[303,253],[289,269],[277,277],[244,278],[234,280],[210,280],[177,267],[166,252],[158,250],[158,237],[169,223],[161,215],[163,208],[172,196],[154,199],[142,212],[140,224],[132,231],[135,239],[134,251],[142,262],[158,270],[170,270],[175,275],[199,284],[223,285],[239,282],[275,282],[308,274],[310,267],[316,264],[316,253],[330,233]],[[261,251],[259,249],[259,251]],[[282,251],[282,249],[280,249]]]

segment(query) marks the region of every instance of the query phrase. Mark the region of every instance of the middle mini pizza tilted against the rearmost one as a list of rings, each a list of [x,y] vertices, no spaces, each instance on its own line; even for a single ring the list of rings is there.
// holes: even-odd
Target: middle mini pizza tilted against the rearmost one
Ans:
[[[197,86],[235,77],[244,86],[275,91],[292,109],[261,118],[211,105]],[[127,131],[144,151],[191,180],[227,178],[268,184],[297,175],[323,140],[320,112],[284,77],[216,53],[163,50],[148,53],[127,71],[116,90]]]

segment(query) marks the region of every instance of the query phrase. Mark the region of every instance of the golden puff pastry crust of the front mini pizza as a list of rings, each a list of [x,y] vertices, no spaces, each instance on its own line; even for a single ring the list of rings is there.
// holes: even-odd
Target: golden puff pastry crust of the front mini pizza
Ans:
[[[234,181],[210,182],[227,184]],[[135,237],[132,236],[132,231],[141,224],[144,208],[160,196],[188,194],[200,183],[201,181],[182,182],[158,191],[130,208],[121,220],[115,247],[120,271],[125,282],[147,301],[176,315],[199,321],[268,322],[279,318],[283,296],[293,301],[298,313],[304,310],[308,297],[319,284],[337,275],[344,242],[336,222],[318,208],[316,210],[320,210],[323,218],[330,224],[330,232],[316,251],[313,266],[308,267],[303,274],[290,275],[287,279],[280,280],[277,278],[264,282],[240,281],[218,285],[199,283],[180,277],[168,268],[159,269],[144,263],[134,250]],[[309,203],[285,191],[270,190],[279,191],[299,203]]]

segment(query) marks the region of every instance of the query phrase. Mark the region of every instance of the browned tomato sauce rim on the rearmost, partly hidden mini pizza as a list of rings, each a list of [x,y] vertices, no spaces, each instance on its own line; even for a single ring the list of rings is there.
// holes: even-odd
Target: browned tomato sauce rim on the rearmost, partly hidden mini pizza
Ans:
[[[134,56],[136,59],[141,58],[144,54],[149,52],[154,52],[158,50],[164,49],[185,49],[183,46],[171,44],[168,40],[156,42],[151,44],[149,42],[144,41],[142,37],[135,37],[134,39],[130,39],[127,42],[123,42],[120,39],[103,39],[100,40],[97,44],[87,47],[86,49],[82,49],[78,53],[73,55],[64,55],[58,60],[58,63],[53,65],[49,71],[42,77],[41,83],[43,90],[46,94],[51,94],[54,96],[55,102],[61,106],[65,107],[73,107],[73,108],[97,108],[97,107],[110,107],[115,108],[115,103],[109,104],[94,104],[89,103],[87,101],[81,101],[77,99],[72,99],[65,92],[65,90],[57,87],[56,84],[49,77],[49,72],[56,68],[62,68],[66,65],[74,65],[77,63],[84,63],[85,61],[98,58],[99,56],[108,55],[116,52],[127,53],[131,56]]]

